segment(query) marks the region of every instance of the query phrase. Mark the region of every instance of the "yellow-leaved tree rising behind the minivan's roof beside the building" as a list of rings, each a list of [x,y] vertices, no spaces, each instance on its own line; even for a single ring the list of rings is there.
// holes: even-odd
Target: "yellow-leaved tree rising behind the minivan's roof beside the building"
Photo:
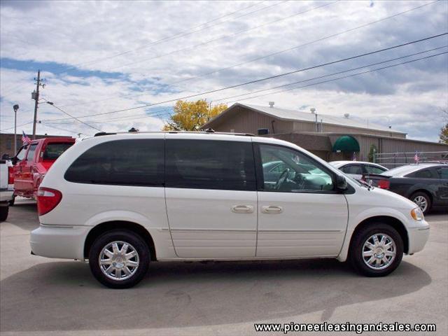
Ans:
[[[174,114],[162,130],[164,131],[197,131],[214,116],[227,109],[227,105],[218,104],[213,107],[206,99],[196,102],[178,100],[174,106]]]

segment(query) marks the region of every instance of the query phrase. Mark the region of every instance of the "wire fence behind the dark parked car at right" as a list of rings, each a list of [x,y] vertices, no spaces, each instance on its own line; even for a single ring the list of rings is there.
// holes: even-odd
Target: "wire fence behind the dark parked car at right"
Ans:
[[[410,163],[416,163],[415,155],[419,157],[419,162],[447,162],[448,151],[442,152],[396,152],[396,153],[374,153],[373,160],[378,165],[393,168]]]

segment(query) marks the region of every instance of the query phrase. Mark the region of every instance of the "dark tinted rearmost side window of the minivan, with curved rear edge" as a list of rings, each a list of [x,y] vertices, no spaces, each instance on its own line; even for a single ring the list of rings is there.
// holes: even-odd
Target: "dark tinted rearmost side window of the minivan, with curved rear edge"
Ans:
[[[164,140],[131,139],[94,146],[67,169],[70,182],[116,186],[163,186]]]

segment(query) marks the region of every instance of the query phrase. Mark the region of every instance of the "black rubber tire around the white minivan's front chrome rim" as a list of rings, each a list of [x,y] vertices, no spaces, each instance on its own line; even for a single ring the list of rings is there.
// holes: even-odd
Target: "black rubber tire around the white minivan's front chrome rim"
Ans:
[[[372,269],[366,265],[363,259],[363,246],[367,239],[372,237],[375,234],[385,234],[388,237],[391,237],[395,242],[395,258],[391,261],[391,264],[384,269]],[[400,234],[391,227],[391,225],[387,225],[384,223],[370,223],[366,225],[364,228],[361,228],[358,232],[356,232],[353,237],[350,245],[349,258],[351,261],[351,265],[356,271],[365,276],[386,276],[393,272],[403,257],[403,241]]]

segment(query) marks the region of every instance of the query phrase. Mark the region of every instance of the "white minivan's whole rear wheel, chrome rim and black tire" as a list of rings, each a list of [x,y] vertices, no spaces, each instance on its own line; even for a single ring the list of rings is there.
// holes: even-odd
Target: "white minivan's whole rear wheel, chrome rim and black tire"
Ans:
[[[113,230],[99,236],[89,252],[90,270],[110,288],[130,288],[148,272],[150,252],[134,232]]]

